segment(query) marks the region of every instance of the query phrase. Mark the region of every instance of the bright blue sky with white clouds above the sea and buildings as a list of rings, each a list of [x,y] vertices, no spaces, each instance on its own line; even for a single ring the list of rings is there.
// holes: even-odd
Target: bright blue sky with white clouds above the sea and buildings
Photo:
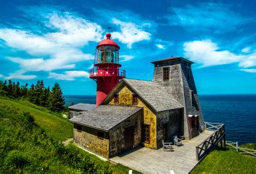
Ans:
[[[200,94],[256,93],[255,1],[0,1],[0,79],[58,81],[95,95],[88,78],[108,26],[128,78],[152,80],[150,61],[194,61]]]

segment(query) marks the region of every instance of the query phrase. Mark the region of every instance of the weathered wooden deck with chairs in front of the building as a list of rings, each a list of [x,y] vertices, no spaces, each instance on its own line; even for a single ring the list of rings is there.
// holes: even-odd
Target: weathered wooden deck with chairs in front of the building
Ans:
[[[120,154],[109,161],[123,164],[142,173],[189,173],[197,164],[196,145],[210,136],[212,131],[204,131],[191,140],[183,140],[183,146],[173,146],[174,151],[163,151],[163,148],[136,148]]]

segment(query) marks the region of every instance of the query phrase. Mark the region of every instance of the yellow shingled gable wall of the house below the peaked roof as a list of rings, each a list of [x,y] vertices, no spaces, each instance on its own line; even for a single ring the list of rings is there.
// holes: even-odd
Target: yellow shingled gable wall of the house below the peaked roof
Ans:
[[[150,148],[156,148],[156,115],[148,109],[143,102],[138,99],[138,104],[132,104],[132,91],[130,91],[126,86],[118,93],[119,102],[117,105],[132,105],[143,107],[144,113],[144,123],[150,124],[150,142],[145,143],[145,146]],[[115,104],[114,98],[109,102],[109,104]]]

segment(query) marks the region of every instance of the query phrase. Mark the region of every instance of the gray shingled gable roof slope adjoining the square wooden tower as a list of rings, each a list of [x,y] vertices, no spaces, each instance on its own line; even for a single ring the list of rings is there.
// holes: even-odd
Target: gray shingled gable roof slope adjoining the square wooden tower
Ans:
[[[134,79],[123,79],[132,90],[136,91],[140,97],[148,102],[150,106],[159,111],[177,109],[183,107],[174,97],[170,96],[164,88],[152,81],[141,81]]]

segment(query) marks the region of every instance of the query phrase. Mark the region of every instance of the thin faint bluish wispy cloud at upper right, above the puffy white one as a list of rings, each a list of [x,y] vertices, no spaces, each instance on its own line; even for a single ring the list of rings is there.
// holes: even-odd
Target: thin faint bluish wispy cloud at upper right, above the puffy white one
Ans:
[[[230,7],[220,3],[200,3],[196,6],[186,5],[184,8],[172,8],[174,14],[168,21],[172,26],[182,26],[187,31],[211,31],[225,33],[235,30],[237,26],[252,20],[233,12]]]

